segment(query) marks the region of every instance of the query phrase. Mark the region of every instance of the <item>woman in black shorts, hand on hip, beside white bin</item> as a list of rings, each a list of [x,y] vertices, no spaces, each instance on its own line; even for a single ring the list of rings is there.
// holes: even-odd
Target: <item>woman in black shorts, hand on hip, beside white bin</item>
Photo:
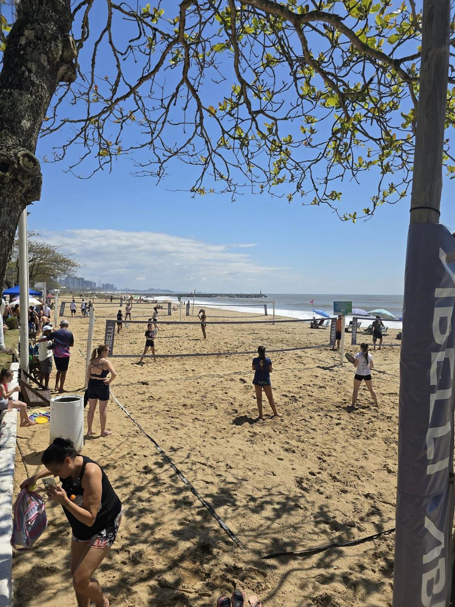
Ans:
[[[101,424],[101,435],[109,436],[110,430],[106,430],[107,403],[109,402],[109,384],[115,379],[116,372],[112,362],[107,360],[109,346],[101,344],[92,352],[89,366],[87,367],[87,396],[89,397],[89,412],[87,413],[87,436],[92,436],[93,417],[95,416],[96,403],[99,401],[99,423]],[[110,373],[110,378],[107,375]]]

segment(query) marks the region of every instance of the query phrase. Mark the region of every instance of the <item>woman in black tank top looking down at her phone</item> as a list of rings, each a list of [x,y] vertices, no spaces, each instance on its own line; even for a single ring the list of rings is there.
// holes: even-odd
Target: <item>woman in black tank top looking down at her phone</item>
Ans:
[[[46,489],[50,500],[61,504],[72,529],[71,575],[76,602],[108,607],[109,600],[92,575],[115,541],[122,518],[122,504],[103,468],[79,455],[68,438],[55,438],[41,456],[45,469],[21,483],[35,485],[45,476],[59,476],[61,485]]]

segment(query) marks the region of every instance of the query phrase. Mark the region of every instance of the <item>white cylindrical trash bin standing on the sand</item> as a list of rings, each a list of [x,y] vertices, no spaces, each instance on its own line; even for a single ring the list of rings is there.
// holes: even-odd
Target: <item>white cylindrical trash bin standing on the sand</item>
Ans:
[[[75,394],[55,396],[50,399],[50,437],[61,436],[73,441],[76,451],[84,446],[84,398]]]

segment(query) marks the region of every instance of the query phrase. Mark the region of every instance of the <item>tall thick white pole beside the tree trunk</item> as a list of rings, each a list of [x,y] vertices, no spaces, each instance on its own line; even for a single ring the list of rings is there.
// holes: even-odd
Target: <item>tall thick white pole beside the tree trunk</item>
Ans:
[[[27,256],[27,209],[19,218],[19,308],[21,310],[21,327],[19,341],[21,344],[21,369],[29,372],[29,257]],[[25,376],[22,377],[24,381]],[[27,382],[28,383],[28,382]]]

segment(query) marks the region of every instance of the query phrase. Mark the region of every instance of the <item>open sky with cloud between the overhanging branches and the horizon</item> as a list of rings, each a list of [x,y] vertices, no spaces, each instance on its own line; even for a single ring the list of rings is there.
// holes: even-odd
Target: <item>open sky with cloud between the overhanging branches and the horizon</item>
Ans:
[[[207,94],[216,95],[210,86]],[[39,157],[50,157],[56,141],[58,135],[39,140]],[[41,201],[29,208],[29,229],[65,243],[86,279],[139,289],[403,291],[409,197],[354,225],[325,206],[303,207],[297,198],[291,204],[268,194],[244,194],[235,203],[227,195],[192,198],[184,191],[192,175],[178,163],[159,185],[133,176],[127,156],[110,174],[99,171],[90,179],[66,168],[65,161],[42,163]],[[345,186],[345,210],[368,206],[365,192],[373,183],[363,173],[360,186]],[[452,187],[445,181],[441,221],[448,226],[455,226]]]

